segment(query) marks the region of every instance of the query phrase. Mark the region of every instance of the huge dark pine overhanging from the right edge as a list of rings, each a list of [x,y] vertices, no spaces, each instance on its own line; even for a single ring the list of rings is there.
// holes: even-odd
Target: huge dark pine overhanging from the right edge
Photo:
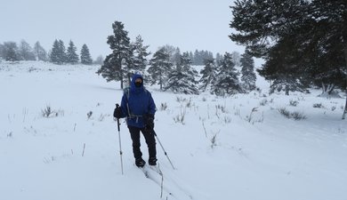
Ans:
[[[230,28],[238,32],[231,34],[230,39],[245,44],[254,56],[265,59],[262,75],[285,81],[290,84],[287,87],[301,88],[295,83],[320,84],[347,91],[345,0],[237,0],[231,9]],[[288,49],[286,44],[292,48]],[[281,67],[273,66],[278,63]],[[346,115],[347,98],[343,118]]]

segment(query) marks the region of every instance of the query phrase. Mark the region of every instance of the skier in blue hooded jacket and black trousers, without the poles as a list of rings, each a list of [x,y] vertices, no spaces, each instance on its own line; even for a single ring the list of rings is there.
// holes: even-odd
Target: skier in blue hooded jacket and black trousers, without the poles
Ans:
[[[113,116],[126,117],[126,124],[133,140],[133,156],[138,167],[146,164],[142,159],[140,132],[148,146],[149,165],[157,164],[156,139],[153,133],[155,113],[156,104],[150,92],[143,86],[143,77],[140,74],[134,74],[130,87],[124,90],[121,105],[115,108]]]

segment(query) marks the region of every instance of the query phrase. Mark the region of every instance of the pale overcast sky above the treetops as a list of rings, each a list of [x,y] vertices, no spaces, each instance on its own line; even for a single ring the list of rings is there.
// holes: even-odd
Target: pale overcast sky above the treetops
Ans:
[[[228,37],[232,0],[0,0],[0,43],[39,41],[48,52],[55,39],[79,52],[87,44],[95,59],[110,53],[106,44],[115,20],[132,41],[142,36],[149,51],[171,44],[181,52],[244,51]]]

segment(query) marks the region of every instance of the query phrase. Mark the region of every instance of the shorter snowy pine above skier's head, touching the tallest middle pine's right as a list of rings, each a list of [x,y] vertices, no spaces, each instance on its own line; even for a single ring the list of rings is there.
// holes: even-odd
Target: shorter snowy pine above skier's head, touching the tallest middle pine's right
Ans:
[[[150,52],[147,52],[149,45],[143,45],[143,39],[139,35],[136,37],[136,41],[131,44],[131,47],[133,56],[131,70],[133,70],[133,73],[140,72],[143,74],[148,64],[146,57],[150,54]]]

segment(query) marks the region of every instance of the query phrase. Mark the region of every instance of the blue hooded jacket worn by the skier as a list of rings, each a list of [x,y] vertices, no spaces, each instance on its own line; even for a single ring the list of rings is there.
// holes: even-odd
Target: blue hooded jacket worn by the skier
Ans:
[[[141,86],[135,85],[137,78],[142,79]],[[143,77],[140,74],[134,74],[130,88],[125,89],[120,107],[122,108],[122,117],[126,117],[126,123],[130,126],[139,128],[145,127],[143,116],[156,113],[156,104],[152,95],[143,87]]]

